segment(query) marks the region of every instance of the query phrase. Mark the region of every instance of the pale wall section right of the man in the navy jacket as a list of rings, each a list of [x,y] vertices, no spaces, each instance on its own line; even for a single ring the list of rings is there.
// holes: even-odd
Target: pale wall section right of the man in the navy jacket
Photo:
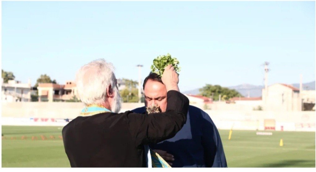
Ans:
[[[219,129],[264,130],[264,119],[274,119],[276,130],[315,131],[315,112],[206,110]]]

